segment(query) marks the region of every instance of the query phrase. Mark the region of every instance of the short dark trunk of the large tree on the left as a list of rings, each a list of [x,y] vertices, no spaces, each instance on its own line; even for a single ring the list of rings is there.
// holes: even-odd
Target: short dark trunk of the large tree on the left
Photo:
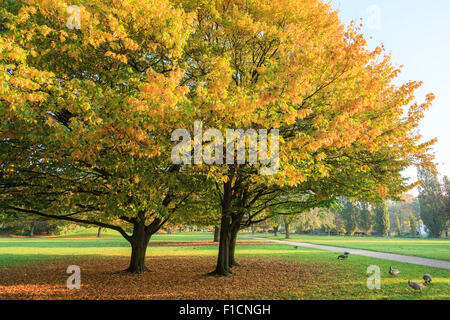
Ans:
[[[126,272],[130,273],[142,273],[148,271],[145,266],[145,254],[147,252],[148,242],[152,233],[148,231],[145,224],[140,222],[136,223],[133,228],[133,236],[131,237],[131,260],[130,266],[126,269]]]

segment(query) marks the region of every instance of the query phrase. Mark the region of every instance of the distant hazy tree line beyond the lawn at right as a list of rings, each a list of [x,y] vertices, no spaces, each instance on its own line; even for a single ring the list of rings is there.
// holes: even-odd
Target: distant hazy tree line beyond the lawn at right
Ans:
[[[449,179],[444,177],[443,182],[439,183],[429,171],[420,171],[420,177],[422,185],[417,197],[403,194],[398,201],[379,201],[375,204],[340,197],[331,208],[315,208],[298,215],[276,216],[263,229],[271,227],[271,232],[277,235],[287,228],[286,238],[289,238],[292,231],[415,237],[421,233],[419,229],[425,229],[429,237],[448,237]]]

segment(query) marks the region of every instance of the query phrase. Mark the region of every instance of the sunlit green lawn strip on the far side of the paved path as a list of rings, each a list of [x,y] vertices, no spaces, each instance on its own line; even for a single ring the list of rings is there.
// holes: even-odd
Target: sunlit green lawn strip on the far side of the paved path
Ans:
[[[255,237],[285,240],[284,235],[274,237],[273,234],[255,234]],[[291,235],[290,241],[295,240],[335,247],[365,249],[450,261],[449,239],[408,239],[297,234]]]

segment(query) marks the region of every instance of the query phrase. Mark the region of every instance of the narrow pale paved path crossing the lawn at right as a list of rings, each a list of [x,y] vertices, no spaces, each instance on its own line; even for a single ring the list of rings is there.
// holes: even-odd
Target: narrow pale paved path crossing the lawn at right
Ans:
[[[436,267],[436,268],[443,268],[443,269],[450,270],[450,261],[445,261],[445,260],[420,258],[420,257],[414,257],[414,256],[404,256],[401,254],[376,252],[376,251],[361,250],[361,249],[350,249],[350,248],[326,246],[326,245],[321,245],[321,244],[312,244],[312,243],[305,243],[305,242],[284,241],[284,240],[275,240],[275,239],[248,237],[248,236],[241,236],[241,237],[254,239],[254,240],[265,240],[265,241],[277,242],[277,243],[282,243],[282,244],[289,244],[289,245],[298,246],[298,247],[307,247],[307,248],[314,248],[314,249],[320,249],[320,250],[336,251],[336,252],[341,252],[341,253],[347,251],[347,252],[350,252],[351,254],[356,254],[356,255],[360,255],[360,256],[379,258],[379,259],[384,259],[384,260],[399,261],[399,262],[406,262],[406,263],[418,264],[421,266]]]

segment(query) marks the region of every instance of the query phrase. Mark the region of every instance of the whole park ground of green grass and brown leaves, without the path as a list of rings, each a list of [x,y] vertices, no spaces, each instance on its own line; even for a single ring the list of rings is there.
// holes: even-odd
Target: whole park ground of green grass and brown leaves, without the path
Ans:
[[[229,277],[208,276],[215,266],[217,244],[211,233],[202,232],[155,235],[147,252],[151,271],[124,274],[119,271],[128,265],[129,244],[112,231],[103,232],[101,238],[95,235],[95,229],[85,229],[58,237],[0,238],[0,299],[450,300],[450,270],[356,255],[339,261],[335,252],[243,236],[237,246],[241,266]],[[450,261],[450,241],[445,239],[307,235],[292,239]],[[66,287],[69,265],[80,266],[80,290]],[[379,290],[367,288],[371,265],[381,270]],[[387,273],[391,265],[401,270],[398,277]],[[424,273],[431,274],[433,282],[423,292],[408,287],[408,280],[420,281]]]

